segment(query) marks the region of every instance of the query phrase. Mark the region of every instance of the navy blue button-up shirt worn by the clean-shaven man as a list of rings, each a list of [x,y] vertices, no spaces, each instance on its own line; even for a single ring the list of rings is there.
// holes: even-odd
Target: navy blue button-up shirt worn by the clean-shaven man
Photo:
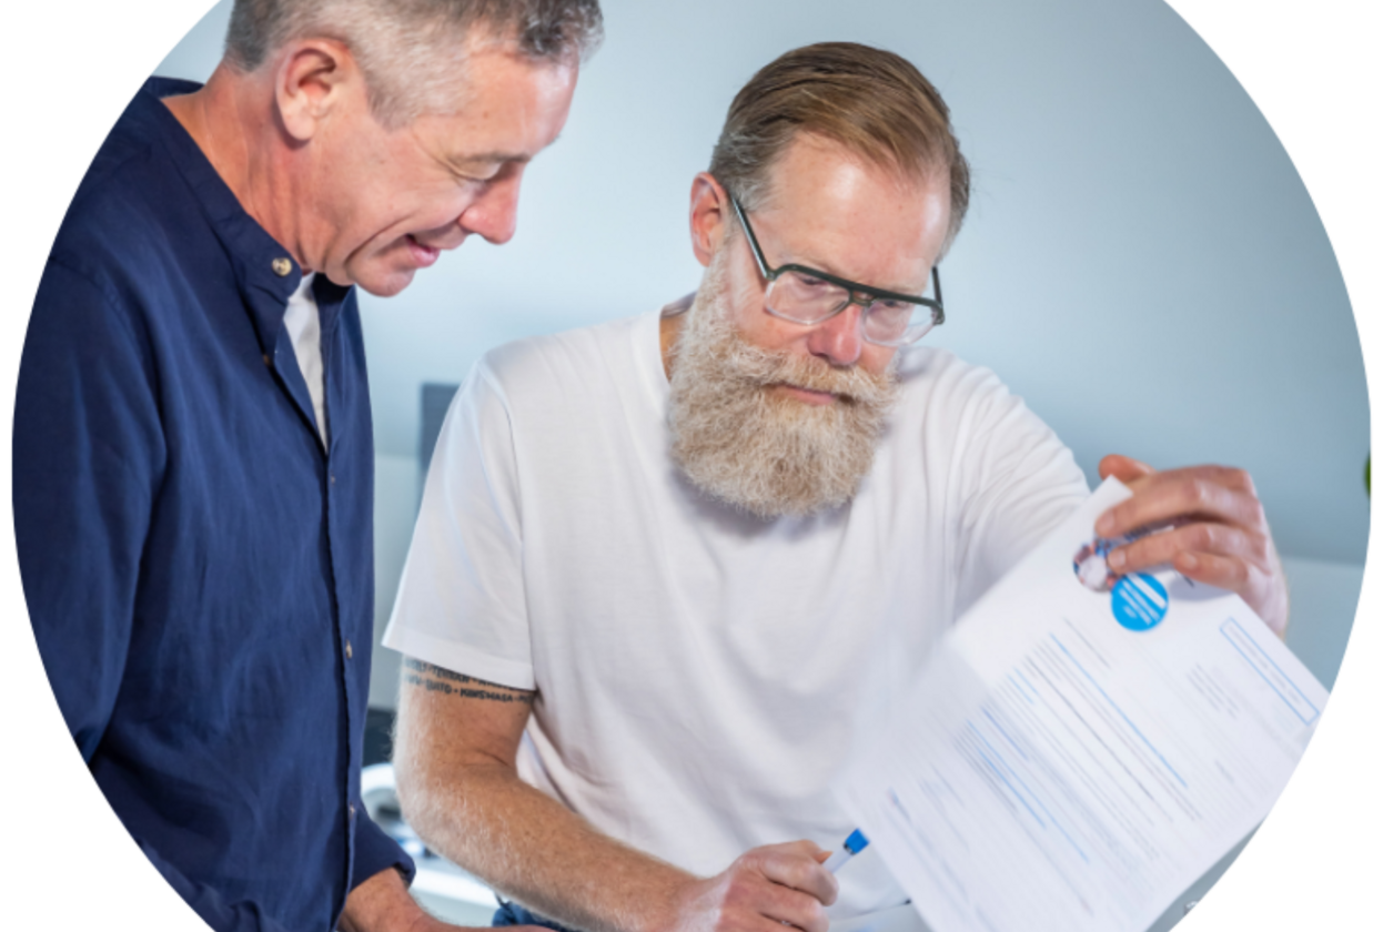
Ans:
[[[373,451],[354,292],[318,275],[329,449],[284,326],[301,270],[145,80],[25,324],[10,520],[29,633],[130,841],[223,929],[331,929],[412,863],[365,816]]]

